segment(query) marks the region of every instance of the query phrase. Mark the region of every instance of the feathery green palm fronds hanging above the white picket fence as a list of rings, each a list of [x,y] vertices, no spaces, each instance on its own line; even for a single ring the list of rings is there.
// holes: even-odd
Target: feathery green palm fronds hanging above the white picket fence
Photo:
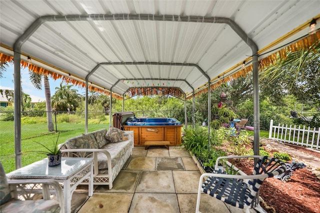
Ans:
[[[320,106],[320,42],[309,49],[287,52],[260,74],[261,92],[271,101],[280,101],[283,94],[293,94],[298,101],[313,101]]]

